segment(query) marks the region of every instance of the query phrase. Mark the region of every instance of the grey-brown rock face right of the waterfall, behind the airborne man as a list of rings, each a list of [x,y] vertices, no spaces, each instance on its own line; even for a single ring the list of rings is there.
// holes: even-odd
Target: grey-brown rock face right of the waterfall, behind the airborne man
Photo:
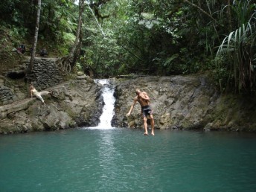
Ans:
[[[150,96],[156,128],[256,130],[254,97],[220,95],[207,75],[139,77],[119,81],[115,90],[113,127],[143,128],[139,104],[126,117],[135,89]]]

